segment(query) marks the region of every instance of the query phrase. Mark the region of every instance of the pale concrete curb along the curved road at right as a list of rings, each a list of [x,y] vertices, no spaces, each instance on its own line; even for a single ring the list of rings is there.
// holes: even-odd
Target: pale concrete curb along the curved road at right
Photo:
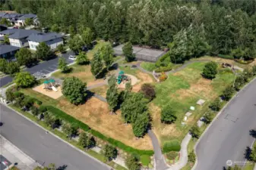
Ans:
[[[235,99],[235,97],[237,97],[237,94],[243,92],[245,90],[245,88],[248,87],[248,85],[251,85],[252,82],[256,81],[256,77],[254,77],[254,79],[251,80],[251,82],[248,82],[240,91],[236,92],[233,97],[228,101],[228,103],[226,103],[226,105],[220,110],[220,112],[214,117],[213,121],[210,122],[210,125],[207,126],[207,128],[204,130],[203,134],[201,134],[200,138],[198,139],[198,141],[196,142],[196,144],[194,145],[194,154],[196,155],[196,160],[194,162],[194,166],[191,168],[191,170],[195,170],[196,166],[198,165],[198,156],[197,156],[197,152],[196,152],[196,148],[198,147],[199,142],[201,141],[201,138],[203,138],[204,134],[208,131],[208,129],[213,125],[213,122],[216,121],[216,119],[221,115],[221,113],[223,113],[223,111],[226,109],[226,107],[229,106],[229,104],[232,103],[232,101]]]

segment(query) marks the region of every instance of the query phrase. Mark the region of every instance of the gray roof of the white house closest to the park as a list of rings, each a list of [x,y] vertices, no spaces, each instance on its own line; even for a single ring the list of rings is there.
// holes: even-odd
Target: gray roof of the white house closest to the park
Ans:
[[[58,39],[61,38],[62,35],[58,34],[56,32],[49,32],[49,33],[34,33],[31,34],[27,40],[30,40],[32,42],[47,42],[51,39]]]

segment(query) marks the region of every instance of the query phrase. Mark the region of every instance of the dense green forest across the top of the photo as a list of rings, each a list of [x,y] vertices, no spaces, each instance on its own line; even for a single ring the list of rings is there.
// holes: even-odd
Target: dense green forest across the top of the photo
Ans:
[[[37,14],[41,26],[73,35],[90,28],[94,38],[168,45],[172,62],[206,52],[256,54],[256,0],[1,0],[0,7]]]

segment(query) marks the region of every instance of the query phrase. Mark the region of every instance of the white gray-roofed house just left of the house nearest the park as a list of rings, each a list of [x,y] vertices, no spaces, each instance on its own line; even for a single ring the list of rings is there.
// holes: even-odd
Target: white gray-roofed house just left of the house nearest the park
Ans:
[[[16,31],[9,35],[10,45],[16,47],[28,47],[29,43],[27,37],[29,37],[33,33],[40,33],[37,30],[33,29],[16,29]]]

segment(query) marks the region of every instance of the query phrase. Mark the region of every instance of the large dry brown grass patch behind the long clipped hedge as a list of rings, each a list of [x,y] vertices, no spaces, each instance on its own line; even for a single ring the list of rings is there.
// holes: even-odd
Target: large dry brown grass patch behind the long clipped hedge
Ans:
[[[117,112],[117,115],[109,114],[108,105],[95,97],[90,98],[86,104],[80,106],[74,106],[68,100],[62,98],[59,100],[58,107],[85,122],[96,131],[100,131],[100,133],[115,140],[122,141],[128,146],[141,150],[153,149],[150,138],[147,135],[136,140],[131,125],[125,125],[122,122],[121,113]]]

